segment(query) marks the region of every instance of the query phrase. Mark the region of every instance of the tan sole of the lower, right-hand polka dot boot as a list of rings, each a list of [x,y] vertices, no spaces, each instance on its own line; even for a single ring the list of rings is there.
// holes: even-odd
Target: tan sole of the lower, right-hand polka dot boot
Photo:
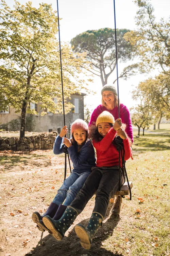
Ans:
[[[88,237],[88,233],[86,231],[86,229],[80,225],[76,225],[75,226],[75,233],[77,234],[77,236],[80,238],[80,243],[81,246],[86,249],[89,250],[91,247],[91,243]]]

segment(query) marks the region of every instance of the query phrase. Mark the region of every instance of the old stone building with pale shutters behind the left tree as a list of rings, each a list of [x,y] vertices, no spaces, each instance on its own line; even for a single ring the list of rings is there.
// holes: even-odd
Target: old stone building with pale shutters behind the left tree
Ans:
[[[84,119],[84,96],[86,94],[73,94],[71,95],[70,102],[75,106],[66,116],[66,125],[70,130],[71,124],[77,118]],[[63,114],[53,114],[48,112],[47,115],[41,116],[41,110],[39,104],[31,103],[31,109],[35,109],[38,114],[31,115],[31,122],[32,122],[32,131],[36,132],[51,132],[57,131],[60,133],[62,127],[64,126],[64,118]],[[28,116],[28,114],[27,114]],[[9,111],[0,111],[0,125],[7,124],[14,119],[18,119],[20,114],[15,113],[15,109],[9,108]]]

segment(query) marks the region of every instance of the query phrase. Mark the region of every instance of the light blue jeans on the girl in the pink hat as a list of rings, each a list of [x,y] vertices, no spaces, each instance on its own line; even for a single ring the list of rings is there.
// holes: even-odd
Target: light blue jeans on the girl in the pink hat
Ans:
[[[72,172],[70,176],[63,182],[63,185],[58,189],[56,196],[54,197],[53,203],[60,205],[63,204],[68,206],[77,196],[79,190],[82,188],[85,180],[91,172],[77,173]]]

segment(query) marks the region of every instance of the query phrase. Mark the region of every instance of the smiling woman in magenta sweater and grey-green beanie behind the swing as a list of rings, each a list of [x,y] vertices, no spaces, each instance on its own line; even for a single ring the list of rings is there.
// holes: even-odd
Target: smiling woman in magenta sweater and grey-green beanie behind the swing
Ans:
[[[113,85],[106,84],[103,86],[101,90],[101,95],[102,95],[102,104],[97,106],[97,108],[93,111],[89,125],[88,125],[89,130],[90,130],[90,126],[96,125],[96,120],[103,111],[110,112],[114,116],[115,120],[118,119],[119,117],[118,116],[118,97],[117,97],[116,88]],[[122,123],[126,125],[125,132],[127,133],[128,137],[131,139],[133,143],[133,129],[132,129],[129,110],[122,103],[119,105],[119,107],[120,107],[120,118],[122,120]],[[133,155],[131,155],[131,158],[133,159]],[[122,197],[117,196],[115,204],[112,209],[112,213],[114,215],[120,214],[121,203],[122,203]]]

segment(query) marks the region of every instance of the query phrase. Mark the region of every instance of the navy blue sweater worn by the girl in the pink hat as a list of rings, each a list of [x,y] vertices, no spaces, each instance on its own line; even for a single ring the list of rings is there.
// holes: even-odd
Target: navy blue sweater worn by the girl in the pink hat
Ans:
[[[59,135],[57,136],[53,148],[55,155],[63,153],[63,139]],[[67,150],[73,163],[73,172],[82,173],[91,171],[91,167],[96,166],[95,150],[90,140],[87,140],[79,153],[77,144],[69,147]]]

